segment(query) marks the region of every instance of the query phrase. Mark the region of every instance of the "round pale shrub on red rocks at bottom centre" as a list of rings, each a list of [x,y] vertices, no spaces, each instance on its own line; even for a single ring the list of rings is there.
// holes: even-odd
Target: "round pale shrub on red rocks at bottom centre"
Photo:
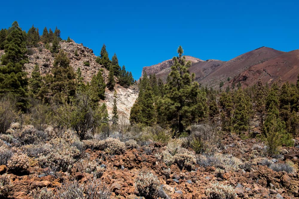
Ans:
[[[157,176],[149,172],[140,172],[135,179],[136,192],[145,198],[154,198],[160,186]]]

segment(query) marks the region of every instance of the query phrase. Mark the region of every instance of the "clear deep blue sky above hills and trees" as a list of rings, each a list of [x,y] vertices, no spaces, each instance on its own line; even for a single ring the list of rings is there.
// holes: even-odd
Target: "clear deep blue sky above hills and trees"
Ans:
[[[290,51],[299,48],[299,3],[293,1],[3,1],[0,28],[18,21],[40,34],[57,26],[99,55],[109,57],[135,79],[144,66],[185,55],[227,61],[261,46]]]

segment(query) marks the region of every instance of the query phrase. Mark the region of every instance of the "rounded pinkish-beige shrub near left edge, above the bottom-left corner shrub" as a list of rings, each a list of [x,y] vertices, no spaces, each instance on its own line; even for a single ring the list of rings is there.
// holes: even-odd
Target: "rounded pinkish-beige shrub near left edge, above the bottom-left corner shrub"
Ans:
[[[29,157],[26,154],[15,153],[7,161],[7,167],[12,172],[24,172],[29,168]]]

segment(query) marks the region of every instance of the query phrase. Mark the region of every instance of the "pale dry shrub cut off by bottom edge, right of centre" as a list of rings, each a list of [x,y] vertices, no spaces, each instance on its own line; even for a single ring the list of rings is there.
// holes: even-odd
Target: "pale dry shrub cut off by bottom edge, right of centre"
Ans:
[[[236,193],[231,185],[223,185],[219,183],[212,184],[211,188],[205,191],[210,199],[234,199]]]

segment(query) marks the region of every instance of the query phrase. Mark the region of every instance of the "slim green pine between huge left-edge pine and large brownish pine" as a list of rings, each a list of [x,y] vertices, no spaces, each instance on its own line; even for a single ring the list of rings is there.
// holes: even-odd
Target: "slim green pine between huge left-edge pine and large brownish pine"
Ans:
[[[31,73],[28,86],[33,98],[38,98],[39,91],[42,87],[42,76],[40,75],[38,65],[35,65],[34,70]]]

